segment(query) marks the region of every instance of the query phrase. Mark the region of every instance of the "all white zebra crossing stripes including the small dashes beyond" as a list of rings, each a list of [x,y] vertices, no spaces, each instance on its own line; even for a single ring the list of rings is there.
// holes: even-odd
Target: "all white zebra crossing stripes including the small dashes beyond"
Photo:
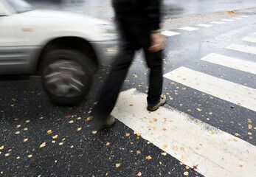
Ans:
[[[241,18],[246,18],[246,16],[233,18],[232,21]],[[212,26],[212,23],[196,26],[211,27],[210,25]],[[179,30],[191,32],[200,29],[183,27]],[[173,36],[181,33],[163,31],[162,34]],[[255,38],[241,38],[241,42],[243,41],[253,44]],[[224,49],[256,55],[256,47],[250,44],[230,44]],[[245,58],[233,58],[212,52],[199,59],[229,69],[256,74],[256,63]],[[167,72],[164,77],[256,112],[256,89],[254,88],[184,66]],[[146,111],[146,105],[146,94],[136,89],[122,91],[112,115],[133,129],[134,133],[141,134],[142,138],[147,139],[183,164],[194,168],[203,176],[256,176],[255,145],[206,122],[198,121],[197,117],[191,117],[168,105],[153,113]]]

